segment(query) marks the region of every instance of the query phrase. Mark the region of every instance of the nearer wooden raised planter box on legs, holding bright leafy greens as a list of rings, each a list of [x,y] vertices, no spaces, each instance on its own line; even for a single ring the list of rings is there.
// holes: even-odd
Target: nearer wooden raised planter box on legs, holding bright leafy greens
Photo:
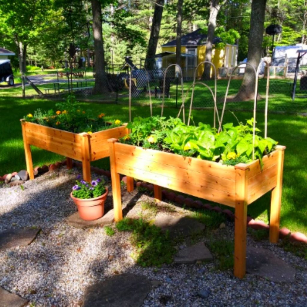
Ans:
[[[161,187],[211,200],[235,208],[234,274],[243,278],[246,270],[247,205],[272,191],[270,242],[277,243],[282,193],[285,146],[258,160],[235,166],[183,157],[173,153],[143,149],[110,139],[112,194],[115,221],[122,219],[119,174],[155,185],[155,198],[161,200]]]

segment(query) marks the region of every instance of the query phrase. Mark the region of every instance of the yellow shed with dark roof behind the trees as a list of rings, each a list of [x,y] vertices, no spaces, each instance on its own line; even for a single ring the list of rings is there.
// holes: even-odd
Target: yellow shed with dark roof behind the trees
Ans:
[[[183,35],[181,37],[181,68],[185,77],[192,78],[196,66],[205,60],[207,35],[201,29]],[[221,42],[219,37],[215,37],[213,44]],[[226,44],[224,48],[213,48],[212,63],[217,72],[235,67],[237,63],[238,46]],[[176,40],[169,41],[162,45],[162,67],[166,68],[170,64],[176,63]],[[156,55],[157,57],[158,55]],[[204,65],[200,65],[197,77],[200,78],[204,72]],[[214,75],[211,69],[212,76]]]

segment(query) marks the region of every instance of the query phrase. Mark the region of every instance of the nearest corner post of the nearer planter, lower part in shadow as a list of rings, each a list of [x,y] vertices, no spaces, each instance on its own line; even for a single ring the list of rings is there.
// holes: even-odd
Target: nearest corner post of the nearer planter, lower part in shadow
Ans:
[[[234,275],[243,278],[246,270],[246,227],[247,227],[247,173],[248,166],[235,165],[235,256]]]

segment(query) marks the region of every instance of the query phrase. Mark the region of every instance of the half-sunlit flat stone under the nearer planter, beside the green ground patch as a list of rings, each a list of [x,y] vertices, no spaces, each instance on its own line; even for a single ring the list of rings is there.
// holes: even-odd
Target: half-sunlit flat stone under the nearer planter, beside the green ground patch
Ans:
[[[192,218],[172,216],[163,212],[157,214],[154,224],[162,230],[168,230],[171,239],[201,233],[205,229],[204,224]]]

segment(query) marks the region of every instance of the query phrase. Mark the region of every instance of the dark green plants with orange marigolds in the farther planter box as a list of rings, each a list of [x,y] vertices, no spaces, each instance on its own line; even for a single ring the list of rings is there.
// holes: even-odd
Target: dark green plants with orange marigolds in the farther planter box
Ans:
[[[34,115],[29,113],[24,117],[28,122],[34,122],[43,126],[57,128],[74,133],[96,132],[121,125],[117,119],[113,123],[104,120],[104,113],[93,116],[90,111],[82,110],[76,103],[74,95],[68,95],[65,102],[56,103],[56,112],[53,110],[42,111],[37,109]]]

